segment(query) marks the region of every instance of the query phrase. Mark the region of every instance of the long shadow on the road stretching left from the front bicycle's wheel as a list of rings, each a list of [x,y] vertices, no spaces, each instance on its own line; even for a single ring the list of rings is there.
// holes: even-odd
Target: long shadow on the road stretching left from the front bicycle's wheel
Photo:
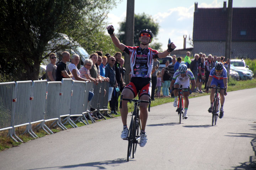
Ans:
[[[115,159],[115,160],[106,160],[102,162],[90,162],[90,163],[84,163],[84,164],[77,164],[77,165],[66,165],[66,166],[54,166],[54,167],[48,167],[48,168],[58,168],[58,169],[73,169],[77,167],[95,167],[98,169],[107,169],[105,167],[106,165],[108,166],[119,166],[121,163],[127,162],[127,159]],[[30,170],[37,170],[37,169],[48,169],[48,168],[36,168],[36,169],[30,169]]]

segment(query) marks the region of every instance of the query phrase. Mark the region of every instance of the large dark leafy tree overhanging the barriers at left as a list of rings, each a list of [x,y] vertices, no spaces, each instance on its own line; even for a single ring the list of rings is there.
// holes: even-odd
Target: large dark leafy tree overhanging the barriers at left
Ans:
[[[0,4],[0,74],[37,80],[40,63],[48,57],[44,55],[48,41],[58,33],[78,42],[93,36],[116,1],[0,0]]]

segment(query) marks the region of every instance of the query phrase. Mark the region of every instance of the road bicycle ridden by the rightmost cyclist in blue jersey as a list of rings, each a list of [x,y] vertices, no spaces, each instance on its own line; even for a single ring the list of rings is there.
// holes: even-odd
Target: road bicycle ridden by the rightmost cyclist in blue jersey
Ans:
[[[212,109],[212,126],[213,125],[216,125],[217,123],[217,119],[219,117],[219,109],[220,109],[220,104],[219,104],[219,91],[221,89],[225,90],[224,91],[224,94],[226,93],[226,87],[209,87],[207,86],[207,91],[209,91],[209,89],[216,89],[215,90],[215,95],[214,95],[214,98],[213,98],[213,109]]]

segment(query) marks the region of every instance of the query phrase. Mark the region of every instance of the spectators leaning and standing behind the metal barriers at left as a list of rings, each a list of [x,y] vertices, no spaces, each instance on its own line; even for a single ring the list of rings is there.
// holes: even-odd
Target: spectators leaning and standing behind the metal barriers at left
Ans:
[[[83,67],[78,69],[80,57],[77,54],[70,56],[68,51],[61,54],[62,60],[58,63],[55,53],[50,53],[50,63],[46,67],[47,81],[62,81],[63,78],[71,78],[78,81],[92,81],[95,85],[102,81],[109,82],[108,102],[110,104],[111,114],[118,114],[118,97],[122,92],[124,83],[124,74],[126,69],[121,52],[116,52],[114,56],[109,53],[102,55],[101,51],[92,53],[89,59],[83,62]],[[69,63],[71,60],[71,63]],[[68,64],[69,63],[69,64]],[[106,93],[106,89],[105,89]],[[88,101],[93,100],[94,93],[89,91]],[[91,108],[91,116],[95,108]],[[92,116],[93,117],[93,116]],[[100,115],[97,115],[100,117]],[[96,117],[93,117],[97,119]]]

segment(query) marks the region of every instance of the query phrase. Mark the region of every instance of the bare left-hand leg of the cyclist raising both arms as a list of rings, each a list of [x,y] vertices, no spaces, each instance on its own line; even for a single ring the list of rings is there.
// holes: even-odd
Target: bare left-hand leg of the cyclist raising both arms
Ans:
[[[123,89],[123,92],[121,95],[123,95],[123,98],[129,98],[129,99],[134,98],[133,92],[130,89]],[[120,109],[123,125],[127,125],[127,114],[128,114],[127,103],[128,101],[123,100],[122,108]]]

